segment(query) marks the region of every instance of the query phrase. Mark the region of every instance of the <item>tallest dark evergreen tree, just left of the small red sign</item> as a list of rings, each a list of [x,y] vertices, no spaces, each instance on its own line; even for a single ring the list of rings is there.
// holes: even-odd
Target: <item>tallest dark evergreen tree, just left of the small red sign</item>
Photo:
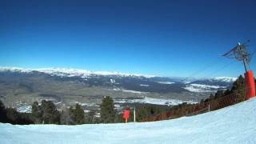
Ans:
[[[100,105],[101,121],[103,123],[114,122],[116,110],[114,110],[114,102],[110,96],[106,96],[102,99],[102,104]]]

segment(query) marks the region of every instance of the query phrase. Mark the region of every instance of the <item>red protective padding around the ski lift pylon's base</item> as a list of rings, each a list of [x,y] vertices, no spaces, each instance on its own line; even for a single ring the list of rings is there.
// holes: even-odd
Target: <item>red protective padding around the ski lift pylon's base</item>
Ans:
[[[246,78],[246,99],[255,97],[255,82],[254,73],[252,70],[248,70],[245,73]]]

